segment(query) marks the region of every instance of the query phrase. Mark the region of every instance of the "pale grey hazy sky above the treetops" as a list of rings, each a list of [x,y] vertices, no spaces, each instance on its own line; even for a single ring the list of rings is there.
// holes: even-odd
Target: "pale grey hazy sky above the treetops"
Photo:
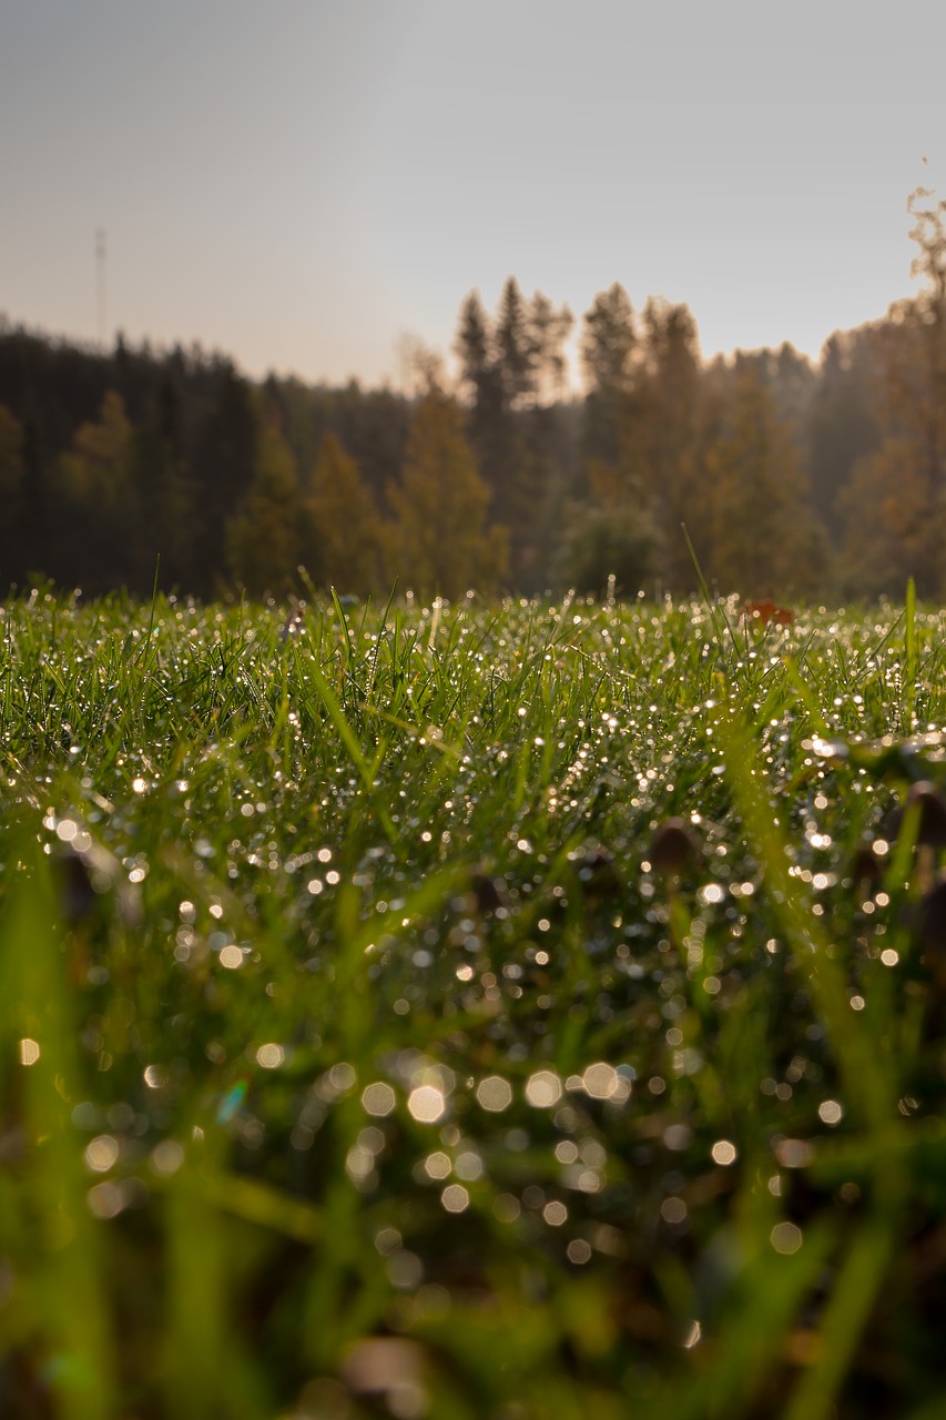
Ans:
[[[686,301],[705,355],[913,290],[943,0],[0,0],[0,312],[399,376],[513,273]],[[923,158],[929,165],[923,165]]]

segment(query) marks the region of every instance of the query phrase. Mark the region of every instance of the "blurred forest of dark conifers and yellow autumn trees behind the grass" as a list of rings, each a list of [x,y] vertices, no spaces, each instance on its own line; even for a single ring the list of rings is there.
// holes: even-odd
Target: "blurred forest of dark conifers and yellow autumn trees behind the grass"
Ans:
[[[472,291],[456,375],[418,346],[406,392],[0,317],[0,589],[676,595],[685,525],[722,594],[942,595],[946,202],[909,210],[918,293],[817,364],[703,361],[685,304],[635,310],[619,283],[578,322],[516,277],[493,312]]]

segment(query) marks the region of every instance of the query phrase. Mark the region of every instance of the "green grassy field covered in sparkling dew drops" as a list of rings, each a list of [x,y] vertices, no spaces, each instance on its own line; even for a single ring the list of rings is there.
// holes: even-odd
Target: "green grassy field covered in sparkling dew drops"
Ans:
[[[946,1413],[943,616],[0,628],[0,1416]]]

